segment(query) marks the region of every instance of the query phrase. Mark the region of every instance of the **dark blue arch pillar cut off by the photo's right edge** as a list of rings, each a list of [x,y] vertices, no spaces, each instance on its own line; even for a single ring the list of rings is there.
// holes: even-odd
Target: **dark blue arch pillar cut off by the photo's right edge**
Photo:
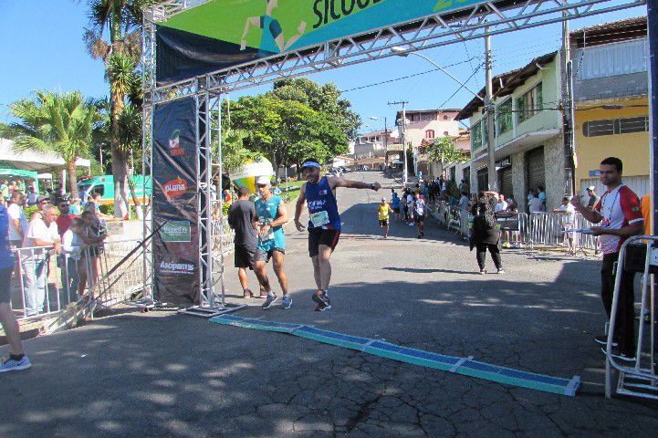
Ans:
[[[650,185],[652,192],[652,235],[655,235],[656,230],[658,230],[658,212],[656,211],[656,196],[658,195],[658,0],[647,0],[647,34],[649,40],[649,132],[651,137],[649,151],[652,175]],[[652,304],[655,306],[653,294]],[[655,312],[655,308],[652,308],[652,310]],[[653,320],[652,323],[654,323]],[[655,345],[655,341],[658,339],[657,329],[658,327],[653,327],[654,354],[658,349]],[[654,356],[653,364],[656,363],[656,360],[658,358]]]

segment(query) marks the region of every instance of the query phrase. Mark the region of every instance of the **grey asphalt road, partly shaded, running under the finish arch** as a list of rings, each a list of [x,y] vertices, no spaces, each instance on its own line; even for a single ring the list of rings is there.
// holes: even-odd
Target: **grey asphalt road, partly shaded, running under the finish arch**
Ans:
[[[392,183],[376,172],[346,176]],[[334,308],[313,312],[306,235],[290,227],[293,307],[264,311],[253,299],[239,315],[578,374],[578,395],[172,312],[128,313],[26,341],[33,368],[0,375],[0,436],[656,436],[658,405],[603,397],[603,358],[592,341],[604,315],[598,261],[507,251],[507,275],[479,276],[468,247],[433,224],[423,240],[404,224],[381,240],[381,193],[339,189],[338,197]],[[243,302],[232,258],[226,263],[229,300]],[[253,275],[250,283],[256,288]]]

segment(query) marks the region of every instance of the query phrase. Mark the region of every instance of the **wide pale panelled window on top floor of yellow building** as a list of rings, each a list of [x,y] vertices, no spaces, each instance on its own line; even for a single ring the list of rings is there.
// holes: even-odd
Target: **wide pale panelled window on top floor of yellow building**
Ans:
[[[646,38],[581,48],[580,80],[647,71],[648,54]]]

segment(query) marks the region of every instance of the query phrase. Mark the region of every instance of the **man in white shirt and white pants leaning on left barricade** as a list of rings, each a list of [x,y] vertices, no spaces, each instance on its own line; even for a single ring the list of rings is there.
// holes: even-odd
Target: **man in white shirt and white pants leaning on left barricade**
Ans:
[[[49,252],[61,251],[59,232],[57,231],[57,208],[51,206],[30,222],[23,240],[22,268],[23,293],[26,299],[26,316],[43,312],[47,289],[47,271]],[[40,249],[39,247],[44,247]],[[47,249],[46,249],[47,247]]]

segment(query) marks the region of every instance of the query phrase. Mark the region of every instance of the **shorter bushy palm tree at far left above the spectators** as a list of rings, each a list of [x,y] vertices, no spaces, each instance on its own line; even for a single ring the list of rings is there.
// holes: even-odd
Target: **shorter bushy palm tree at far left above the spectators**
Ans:
[[[77,197],[76,161],[89,152],[98,112],[79,91],[36,91],[36,95],[36,99],[20,99],[9,106],[17,119],[9,125],[14,150],[57,152],[66,162],[70,193]]]

